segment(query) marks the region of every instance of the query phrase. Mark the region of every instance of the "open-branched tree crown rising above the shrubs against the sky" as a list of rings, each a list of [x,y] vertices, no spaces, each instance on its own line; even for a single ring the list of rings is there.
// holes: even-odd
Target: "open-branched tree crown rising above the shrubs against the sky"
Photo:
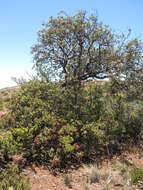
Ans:
[[[64,86],[110,76],[129,78],[140,69],[142,47],[138,39],[115,34],[94,14],[59,14],[43,24],[32,48],[35,67],[42,77],[61,79]]]

